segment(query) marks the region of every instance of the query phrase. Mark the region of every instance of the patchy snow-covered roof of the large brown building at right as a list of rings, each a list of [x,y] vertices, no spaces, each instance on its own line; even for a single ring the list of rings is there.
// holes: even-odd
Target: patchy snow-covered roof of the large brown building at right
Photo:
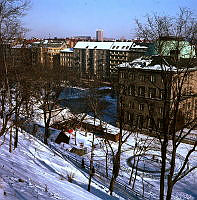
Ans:
[[[135,69],[143,69],[143,70],[156,70],[156,71],[176,71],[177,68],[173,66],[167,66],[167,65],[151,65],[152,59],[143,59],[138,58],[133,60],[132,62],[126,62],[122,63],[117,66],[117,68],[135,68]]]

